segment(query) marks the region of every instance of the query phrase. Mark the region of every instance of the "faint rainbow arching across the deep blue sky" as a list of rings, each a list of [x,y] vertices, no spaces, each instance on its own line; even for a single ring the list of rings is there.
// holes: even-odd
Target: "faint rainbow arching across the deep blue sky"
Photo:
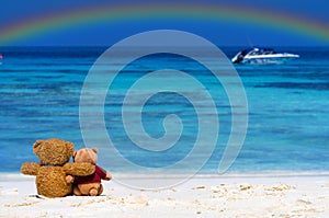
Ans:
[[[229,4],[105,4],[39,14],[0,30],[0,45],[70,26],[149,19],[190,19],[250,23],[302,34],[329,43],[329,26],[310,18]]]

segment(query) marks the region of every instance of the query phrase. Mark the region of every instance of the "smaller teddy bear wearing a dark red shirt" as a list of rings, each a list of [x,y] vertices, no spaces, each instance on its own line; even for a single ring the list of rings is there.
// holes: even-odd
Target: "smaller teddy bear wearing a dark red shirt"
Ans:
[[[101,180],[111,180],[112,175],[97,165],[98,149],[83,148],[75,152],[73,160],[76,163],[91,163],[95,165],[95,172],[88,176],[76,176],[73,193],[75,195],[98,196],[103,192]]]

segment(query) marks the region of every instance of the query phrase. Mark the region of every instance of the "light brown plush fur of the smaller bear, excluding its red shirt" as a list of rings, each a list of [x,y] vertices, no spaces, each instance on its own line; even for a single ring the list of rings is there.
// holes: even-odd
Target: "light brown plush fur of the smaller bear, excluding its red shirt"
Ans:
[[[73,158],[76,163],[91,163],[97,164],[98,161],[98,149],[92,148],[83,148],[75,152]],[[112,179],[112,175],[106,172],[106,181],[110,181]],[[90,182],[84,184],[75,184],[73,186],[73,193],[75,195],[81,196],[81,195],[90,195],[90,196],[97,196],[101,195],[103,193],[103,185],[99,182]]]

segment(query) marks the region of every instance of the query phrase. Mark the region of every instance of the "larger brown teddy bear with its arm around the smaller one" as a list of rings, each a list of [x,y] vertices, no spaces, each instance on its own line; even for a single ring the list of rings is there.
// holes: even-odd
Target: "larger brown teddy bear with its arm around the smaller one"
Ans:
[[[68,163],[75,153],[75,147],[69,141],[56,138],[37,140],[33,145],[33,152],[39,158],[39,163],[23,163],[21,172],[36,175],[37,193],[46,197],[71,195],[72,175],[90,175],[95,170],[90,163]]]

